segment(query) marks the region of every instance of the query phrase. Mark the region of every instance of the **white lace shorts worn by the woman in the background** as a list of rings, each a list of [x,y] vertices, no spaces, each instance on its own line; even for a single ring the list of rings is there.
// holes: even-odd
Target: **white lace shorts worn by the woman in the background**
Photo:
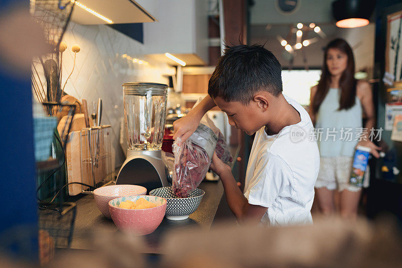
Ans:
[[[348,190],[357,192],[361,187],[349,184],[350,172],[352,170],[353,157],[321,157],[320,171],[318,173],[315,188],[326,187],[328,190]],[[370,170],[364,174],[363,187],[369,186]]]

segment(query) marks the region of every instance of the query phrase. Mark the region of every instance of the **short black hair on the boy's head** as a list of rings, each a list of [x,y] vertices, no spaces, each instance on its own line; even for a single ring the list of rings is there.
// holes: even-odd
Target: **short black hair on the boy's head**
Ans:
[[[263,46],[227,46],[208,83],[208,94],[245,105],[261,90],[278,96],[282,92],[281,69]]]

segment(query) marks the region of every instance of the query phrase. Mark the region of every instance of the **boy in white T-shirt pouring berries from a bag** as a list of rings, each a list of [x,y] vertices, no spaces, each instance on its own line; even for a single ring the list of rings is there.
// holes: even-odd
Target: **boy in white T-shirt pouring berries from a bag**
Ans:
[[[216,154],[211,164],[238,222],[312,223],[320,165],[317,143],[309,138],[313,124],[302,106],[282,95],[281,66],[275,56],[258,45],[228,47],[209,81],[208,94],[174,122],[173,139],[187,139],[216,105],[227,113],[231,125],[248,135],[255,133],[244,193]]]

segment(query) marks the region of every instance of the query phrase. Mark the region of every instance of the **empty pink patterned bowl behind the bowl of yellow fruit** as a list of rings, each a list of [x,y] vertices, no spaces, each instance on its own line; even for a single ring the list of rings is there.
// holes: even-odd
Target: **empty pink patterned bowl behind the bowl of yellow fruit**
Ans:
[[[93,191],[93,198],[95,199],[97,208],[104,214],[105,217],[110,218],[109,201],[122,196],[145,195],[147,189],[139,185],[119,184],[99,187]]]

